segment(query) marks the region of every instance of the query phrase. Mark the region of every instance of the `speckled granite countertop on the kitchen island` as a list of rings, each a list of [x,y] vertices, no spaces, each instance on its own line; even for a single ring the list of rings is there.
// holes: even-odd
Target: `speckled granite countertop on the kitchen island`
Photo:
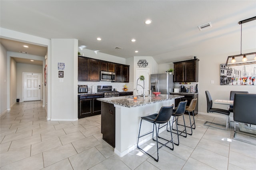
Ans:
[[[98,101],[103,101],[106,103],[111,103],[114,105],[120,105],[123,107],[139,107],[139,106],[143,106],[143,105],[149,105],[152,103],[158,103],[161,101],[168,101],[168,100],[172,100],[172,99],[178,99],[178,98],[182,98],[184,96],[181,95],[159,95],[159,96],[153,96],[150,97],[150,99],[148,97],[145,97],[145,99],[143,99],[142,97],[140,97],[140,99],[133,99],[133,96],[120,96],[120,97],[107,97],[107,98],[98,98]]]

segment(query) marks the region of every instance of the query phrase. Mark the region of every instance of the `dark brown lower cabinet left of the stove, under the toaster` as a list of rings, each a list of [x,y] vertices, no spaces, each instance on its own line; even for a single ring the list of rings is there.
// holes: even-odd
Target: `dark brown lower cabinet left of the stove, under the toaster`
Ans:
[[[104,97],[103,94],[78,95],[78,119],[101,114],[101,101],[97,98]]]

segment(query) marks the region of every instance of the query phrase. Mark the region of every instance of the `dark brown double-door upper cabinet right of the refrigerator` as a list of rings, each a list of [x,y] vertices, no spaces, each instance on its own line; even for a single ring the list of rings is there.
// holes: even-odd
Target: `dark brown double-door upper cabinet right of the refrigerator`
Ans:
[[[198,82],[198,61],[190,59],[174,62],[174,82]]]

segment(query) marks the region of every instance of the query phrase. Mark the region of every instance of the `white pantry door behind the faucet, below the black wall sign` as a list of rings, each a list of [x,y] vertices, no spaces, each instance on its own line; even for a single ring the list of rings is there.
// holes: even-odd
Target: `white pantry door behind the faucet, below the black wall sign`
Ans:
[[[136,83],[137,83],[137,79],[140,77],[140,75],[144,75],[145,77],[145,95],[148,95],[148,90],[149,90],[149,69],[136,69],[136,77],[135,77],[135,88],[136,87]],[[141,85],[143,87],[143,81],[138,80],[138,84]],[[139,95],[143,94],[143,88],[138,86],[138,92]],[[138,95],[136,91],[134,91],[134,95]]]

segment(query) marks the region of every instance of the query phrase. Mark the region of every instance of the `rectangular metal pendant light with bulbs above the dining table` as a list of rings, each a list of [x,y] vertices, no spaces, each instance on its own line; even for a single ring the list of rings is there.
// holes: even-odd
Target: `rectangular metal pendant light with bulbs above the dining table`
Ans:
[[[239,55],[228,56],[228,59],[227,59],[227,62],[226,62],[226,66],[244,65],[244,64],[254,64],[254,63],[256,63],[256,52],[242,54],[242,24],[244,24],[246,22],[253,21],[253,20],[256,20],[256,16],[238,22],[238,24],[241,24],[241,48],[240,48],[240,54]],[[255,57],[254,57],[254,55],[255,55]],[[236,62],[236,61],[238,61],[238,62]]]

